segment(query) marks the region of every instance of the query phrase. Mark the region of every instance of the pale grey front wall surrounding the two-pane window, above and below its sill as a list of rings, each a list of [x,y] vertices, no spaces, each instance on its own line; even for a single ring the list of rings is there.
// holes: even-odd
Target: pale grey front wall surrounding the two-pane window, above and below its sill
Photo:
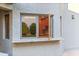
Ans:
[[[60,13],[60,4],[14,4],[13,5],[13,40],[20,40],[20,13],[49,13],[54,15],[54,30],[52,33],[54,38],[59,38],[60,36],[60,15],[62,15],[62,11]],[[65,10],[65,9],[64,9]],[[22,39],[21,39],[22,40]],[[59,45],[59,44],[58,44]],[[57,52],[58,51],[58,52]],[[46,53],[45,53],[46,52]],[[60,46],[55,46],[53,43],[51,45],[44,46],[19,46],[13,47],[13,55],[62,55],[63,48],[62,44]]]

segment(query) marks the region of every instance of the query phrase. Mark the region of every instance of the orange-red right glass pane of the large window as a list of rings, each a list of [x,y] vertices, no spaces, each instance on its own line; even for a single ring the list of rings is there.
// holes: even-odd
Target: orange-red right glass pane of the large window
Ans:
[[[39,37],[49,36],[49,18],[48,16],[39,16]]]

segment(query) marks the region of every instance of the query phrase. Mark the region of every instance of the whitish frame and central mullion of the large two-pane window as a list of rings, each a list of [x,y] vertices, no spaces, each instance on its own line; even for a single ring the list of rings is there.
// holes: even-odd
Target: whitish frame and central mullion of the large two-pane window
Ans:
[[[37,16],[37,18],[38,18],[38,15],[48,15],[48,17],[49,17],[49,37],[44,37],[44,38],[48,39],[48,40],[53,38],[52,37],[52,35],[53,35],[53,30],[52,30],[52,27],[53,27],[53,25],[52,25],[53,15],[50,15],[50,14],[36,14],[36,13],[21,13],[20,14],[20,21],[21,21],[21,24],[20,24],[21,36],[20,36],[20,38],[21,39],[30,39],[30,38],[31,39],[43,39],[42,37],[39,37],[39,23],[38,23],[38,20],[37,20],[37,24],[36,24],[36,37],[22,37],[22,16],[23,15],[29,15],[29,14],[32,15],[32,16],[35,15],[35,16]],[[51,19],[51,16],[52,16],[52,19]]]

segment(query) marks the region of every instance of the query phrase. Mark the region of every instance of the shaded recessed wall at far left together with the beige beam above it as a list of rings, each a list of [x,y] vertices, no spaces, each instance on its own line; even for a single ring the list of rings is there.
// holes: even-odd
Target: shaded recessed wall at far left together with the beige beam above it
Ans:
[[[4,10],[4,11],[2,11]],[[6,53],[7,55],[12,55],[12,40],[11,40],[11,32],[10,32],[10,39],[4,39],[4,28],[3,28],[3,21],[4,21],[4,14],[6,13],[5,11],[10,11],[12,10],[12,5],[11,4],[6,4],[6,3],[0,3],[0,52]],[[10,21],[11,21],[11,16],[10,16]],[[11,26],[11,24],[10,24]],[[10,29],[11,31],[11,29]]]

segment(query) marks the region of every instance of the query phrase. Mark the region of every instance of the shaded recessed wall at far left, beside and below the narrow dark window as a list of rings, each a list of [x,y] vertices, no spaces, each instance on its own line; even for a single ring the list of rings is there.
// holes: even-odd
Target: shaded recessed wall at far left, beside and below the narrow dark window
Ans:
[[[4,15],[6,12],[0,10],[0,52],[6,53],[7,55],[12,55],[11,39],[3,38],[4,34]],[[11,19],[10,19],[11,20]],[[11,34],[11,33],[10,33]]]

